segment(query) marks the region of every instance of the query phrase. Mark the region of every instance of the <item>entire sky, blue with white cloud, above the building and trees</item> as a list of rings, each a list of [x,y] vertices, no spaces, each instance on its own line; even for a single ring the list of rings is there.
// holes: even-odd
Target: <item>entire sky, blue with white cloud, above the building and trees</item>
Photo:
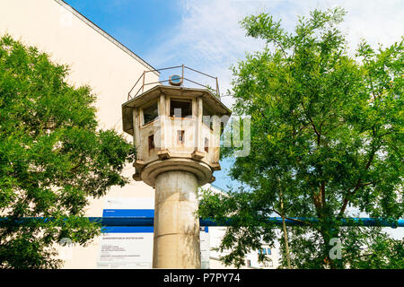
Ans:
[[[340,5],[347,10],[342,29],[353,51],[361,39],[391,45],[404,32],[402,0],[65,0],[155,68],[189,65],[219,77],[220,90],[231,88],[230,67],[246,52],[263,48],[245,37],[239,22],[251,13],[267,12],[292,30],[297,16]],[[231,97],[223,98],[231,106]],[[225,189],[229,162],[215,172]]]

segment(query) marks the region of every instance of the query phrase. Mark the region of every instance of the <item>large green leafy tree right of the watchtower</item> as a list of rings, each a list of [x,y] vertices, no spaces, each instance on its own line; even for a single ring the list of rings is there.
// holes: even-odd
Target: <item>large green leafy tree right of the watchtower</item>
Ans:
[[[219,222],[232,217],[220,246],[231,250],[226,264],[243,265],[260,239],[277,239],[266,219],[281,214],[279,195],[286,218],[319,219],[288,228],[294,267],[363,267],[358,262],[365,257],[349,254],[373,250],[375,239],[366,241],[364,233],[384,241],[383,250],[402,250],[403,242],[387,243],[380,228],[339,223],[359,212],[398,219],[404,210],[403,39],[377,50],[362,42],[351,56],[338,29],[344,15],[341,8],[314,10],[293,32],[266,13],[242,21],[247,35],[267,42],[233,67],[233,109],[251,116],[250,154],[234,159],[230,170],[244,187],[226,195],[206,192],[199,211]],[[340,259],[329,256],[333,238],[342,241]],[[394,260],[391,266],[398,266]]]

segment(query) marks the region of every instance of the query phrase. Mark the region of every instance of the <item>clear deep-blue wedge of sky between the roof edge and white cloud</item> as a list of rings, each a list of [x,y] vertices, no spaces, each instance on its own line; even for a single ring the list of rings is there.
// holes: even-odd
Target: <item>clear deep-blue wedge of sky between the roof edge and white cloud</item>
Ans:
[[[180,19],[179,3],[170,1],[66,0],[66,3],[140,57],[145,57]]]

